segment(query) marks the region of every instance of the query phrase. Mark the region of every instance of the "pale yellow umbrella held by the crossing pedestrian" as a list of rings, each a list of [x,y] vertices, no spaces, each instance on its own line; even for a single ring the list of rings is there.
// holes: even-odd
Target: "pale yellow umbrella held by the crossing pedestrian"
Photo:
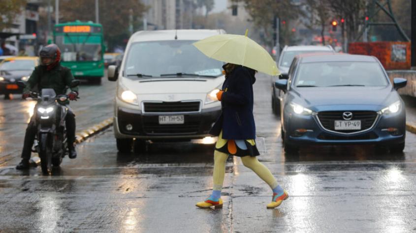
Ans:
[[[270,54],[246,34],[222,34],[193,43],[199,51],[213,59],[246,66],[268,75],[280,75]]]

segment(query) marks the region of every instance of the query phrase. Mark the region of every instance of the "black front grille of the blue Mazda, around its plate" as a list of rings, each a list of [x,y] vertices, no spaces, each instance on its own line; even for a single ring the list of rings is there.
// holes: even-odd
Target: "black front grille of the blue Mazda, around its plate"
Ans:
[[[361,120],[361,129],[357,130],[335,130],[335,121],[345,119],[342,114],[346,111],[322,111],[318,113],[320,124],[323,128],[331,131],[337,131],[342,133],[353,133],[370,129],[377,119],[377,112],[375,111],[350,111],[352,112],[351,120]]]

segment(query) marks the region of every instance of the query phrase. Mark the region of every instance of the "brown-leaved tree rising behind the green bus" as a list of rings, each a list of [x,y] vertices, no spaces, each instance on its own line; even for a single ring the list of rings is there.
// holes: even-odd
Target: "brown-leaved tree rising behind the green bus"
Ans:
[[[60,21],[95,21],[94,9],[93,0],[61,0]],[[99,0],[99,23],[103,26],[104,39],[110,49],[123,44],[123,39],[128,39],[130,12],[137,25],[146,10],[147,7],[138,0]]]

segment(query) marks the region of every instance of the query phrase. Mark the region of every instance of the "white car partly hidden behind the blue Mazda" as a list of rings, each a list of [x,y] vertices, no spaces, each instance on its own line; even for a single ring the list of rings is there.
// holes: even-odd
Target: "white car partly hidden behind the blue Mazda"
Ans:
[[[331,46],[318,46],[318,45],[309,45],[309,46],[285,46],[282,52],[280,53],[278,68],[282,75],[279,78],[288,78],[289,66],[293,61],[293,58],[299,54],[305,53],[317,53],[317,52],[330,52],[333,53],[334,49]],[[272,82],[272,110],[273,113],[279,115],[279,99],[282,98],[282,92],[279,89],[275,88],[274,82]]]

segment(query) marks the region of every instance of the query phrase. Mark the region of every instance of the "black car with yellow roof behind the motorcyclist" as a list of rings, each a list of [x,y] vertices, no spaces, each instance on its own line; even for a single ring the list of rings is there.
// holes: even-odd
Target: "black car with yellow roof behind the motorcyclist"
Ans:
[[[17,81],[27,81],[39,63],[36,56],[14,56],[0,63],[0,95],[10,99],[10,94],[21,94],[23,89]]]

